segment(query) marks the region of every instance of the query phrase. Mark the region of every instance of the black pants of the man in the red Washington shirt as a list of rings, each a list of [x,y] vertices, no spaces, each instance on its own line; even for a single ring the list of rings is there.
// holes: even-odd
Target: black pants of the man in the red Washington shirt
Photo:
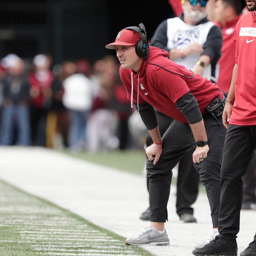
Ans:
[[[235,240],[240,228],[242,176],[256,149],[256,125],[228,125],[221,167],[219,237]],[[256,235],[255,235],[256,239]]]

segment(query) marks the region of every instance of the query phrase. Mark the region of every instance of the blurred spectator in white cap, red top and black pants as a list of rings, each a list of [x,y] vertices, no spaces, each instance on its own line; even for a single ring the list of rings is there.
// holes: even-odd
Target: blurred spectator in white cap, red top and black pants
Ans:
[[[51,58],[38,54],[33,58],[32,71],[28,78],[30,83],[30,118],[32,145],[46,146],[47,114],[51,106],[51,84],[54,78],[50,70]]]

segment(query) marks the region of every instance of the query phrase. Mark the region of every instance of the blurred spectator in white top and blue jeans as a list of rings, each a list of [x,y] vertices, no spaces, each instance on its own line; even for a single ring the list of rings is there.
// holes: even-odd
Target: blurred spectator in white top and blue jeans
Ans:
[[[93,103],[93,87],[86,76],[90,64],[86,60],[76,62],[76,74],[63,81],[63,104],[70,116],[69,146],[73,151],[87,149],[87,116]]]

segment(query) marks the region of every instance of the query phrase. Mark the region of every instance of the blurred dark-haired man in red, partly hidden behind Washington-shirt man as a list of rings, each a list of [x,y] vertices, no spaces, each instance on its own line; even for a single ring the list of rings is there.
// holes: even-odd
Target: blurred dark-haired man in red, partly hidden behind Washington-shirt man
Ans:
[[[233,67],[235,65],[235,31],[236,24],[246,6],[244,0],[209,0],[212,8],[208,14],[214,19],[217,26],[221,28],[223,45],[221,47],[221,58],[218,61],[220,70],[217,85],[228,93],[231,84]],[[243,180],[243,203],[241,209],[255,209],[256,203],[256,151],[253,153]]]

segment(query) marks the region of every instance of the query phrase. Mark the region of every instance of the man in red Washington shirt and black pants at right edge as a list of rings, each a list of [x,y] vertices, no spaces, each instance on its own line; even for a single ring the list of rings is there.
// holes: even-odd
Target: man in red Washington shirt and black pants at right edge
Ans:
[[[249,12],[238,21],[235,32],[236,58],[223,124],[227,128],[221,166],[219,235],[193,254],[237,256],[243,198],[242,176],[256,149],[256,0],[246,0]],[[256,234],[240,256],[256,256]]]

